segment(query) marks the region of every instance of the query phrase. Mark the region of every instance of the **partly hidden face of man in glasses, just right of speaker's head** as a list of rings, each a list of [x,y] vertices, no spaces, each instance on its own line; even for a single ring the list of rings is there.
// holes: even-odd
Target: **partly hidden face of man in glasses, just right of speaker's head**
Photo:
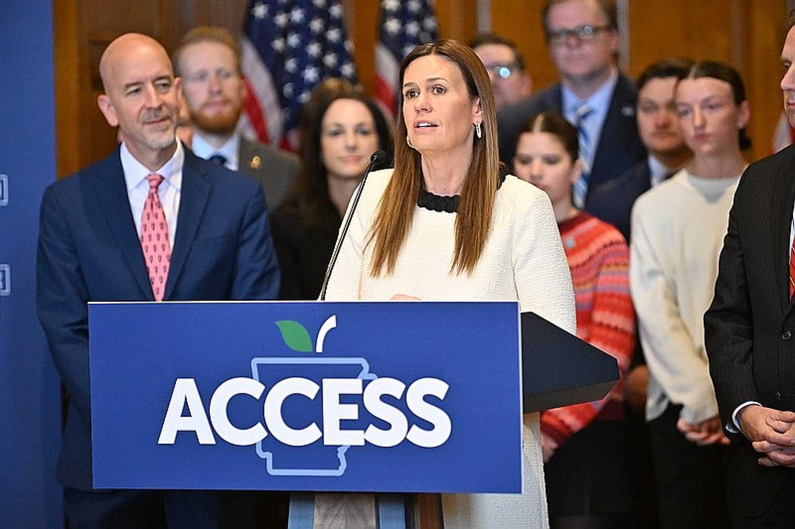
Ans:
[[[497,110],[520,102],[533,93],[533,79],[525,70],[525,60],[516,44],[497,33],[481,33],[469,43],[469,47],[489,72]]]

